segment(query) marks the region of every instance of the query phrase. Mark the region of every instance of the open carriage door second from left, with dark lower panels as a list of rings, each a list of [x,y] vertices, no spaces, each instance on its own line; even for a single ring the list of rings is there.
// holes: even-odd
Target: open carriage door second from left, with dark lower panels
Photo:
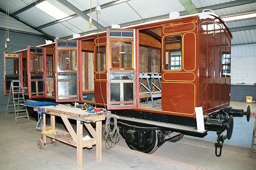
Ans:
[[[46,53],[43,48],[27,46],[28,96],[46,97]]]

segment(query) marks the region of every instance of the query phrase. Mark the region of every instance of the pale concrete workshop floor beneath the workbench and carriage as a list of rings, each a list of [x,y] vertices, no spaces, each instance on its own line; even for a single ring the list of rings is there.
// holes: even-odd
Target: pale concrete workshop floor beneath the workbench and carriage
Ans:
[[[251,136],[243,136],[243,131],[253,129],[241,123],[243,121],[246,120],[235,120],[235,125],[244,125],[244,130],[241,134],[233,133],[232,138],[251,141]],[[36,142],[40,132],[35,126],[34,119],[28,122],[26,118],[19,118],[15,124],[14,117],[6,119],[5,113],[0,113],[0,169],[76,169],[76,148],[59,143],[57,146],[48,144],[39,150]],[[56,126],[61,128],[60,124]],[[102,142],[102,163],[96,162],[95,147],[85,148],[83,169],[256,169],[256,159],[249,158],[250,148],[226,143],[221,157],[214,155],[214,142],[187,137],[176,143],[166,142],[149,155],[130,150],[121,138],[110,150]]]

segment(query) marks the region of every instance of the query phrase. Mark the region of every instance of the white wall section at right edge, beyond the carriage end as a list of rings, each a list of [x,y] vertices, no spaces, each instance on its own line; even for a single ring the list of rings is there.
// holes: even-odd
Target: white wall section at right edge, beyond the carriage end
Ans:
[[[256,44],[231,46],[231,84],[256,83]]]

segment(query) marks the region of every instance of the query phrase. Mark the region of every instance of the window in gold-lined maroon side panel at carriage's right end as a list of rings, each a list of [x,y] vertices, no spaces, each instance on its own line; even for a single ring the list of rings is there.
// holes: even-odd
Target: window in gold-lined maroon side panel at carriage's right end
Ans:
[[[170,36],[164,39],[165,45],[165,58],[164,69],[165,70],[181,70],[182,66],[182,37]]]

